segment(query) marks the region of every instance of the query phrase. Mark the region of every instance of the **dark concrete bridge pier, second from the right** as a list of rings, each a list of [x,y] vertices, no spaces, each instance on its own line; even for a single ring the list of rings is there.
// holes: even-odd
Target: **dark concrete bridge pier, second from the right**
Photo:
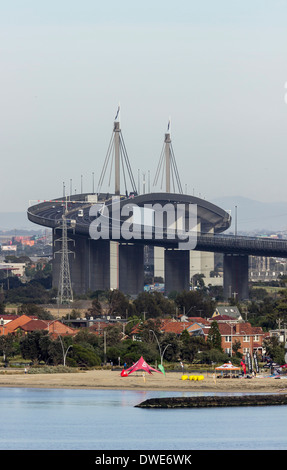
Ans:
[[[164,271],[166,294],[189,290],[189,251],[166,249]]]

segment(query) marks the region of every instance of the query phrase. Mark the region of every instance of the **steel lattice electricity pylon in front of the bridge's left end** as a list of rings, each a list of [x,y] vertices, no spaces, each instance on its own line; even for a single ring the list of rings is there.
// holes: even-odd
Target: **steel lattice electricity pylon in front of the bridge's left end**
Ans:
[[[59,226],[59,229],[62,230],[62,237],[56,241],[61,242],[62,247],[59,251],[55,252],[55,254],[58,253],[61,255],[60,275],[58,284],[58,303],[69,304],[73,302],[69,254],[73,253],[75,255],[75,253],[73,251],[70,251],[68,248],[68,242],[73,240],[68,238],[66,212],[62,216],[62,223]]]

